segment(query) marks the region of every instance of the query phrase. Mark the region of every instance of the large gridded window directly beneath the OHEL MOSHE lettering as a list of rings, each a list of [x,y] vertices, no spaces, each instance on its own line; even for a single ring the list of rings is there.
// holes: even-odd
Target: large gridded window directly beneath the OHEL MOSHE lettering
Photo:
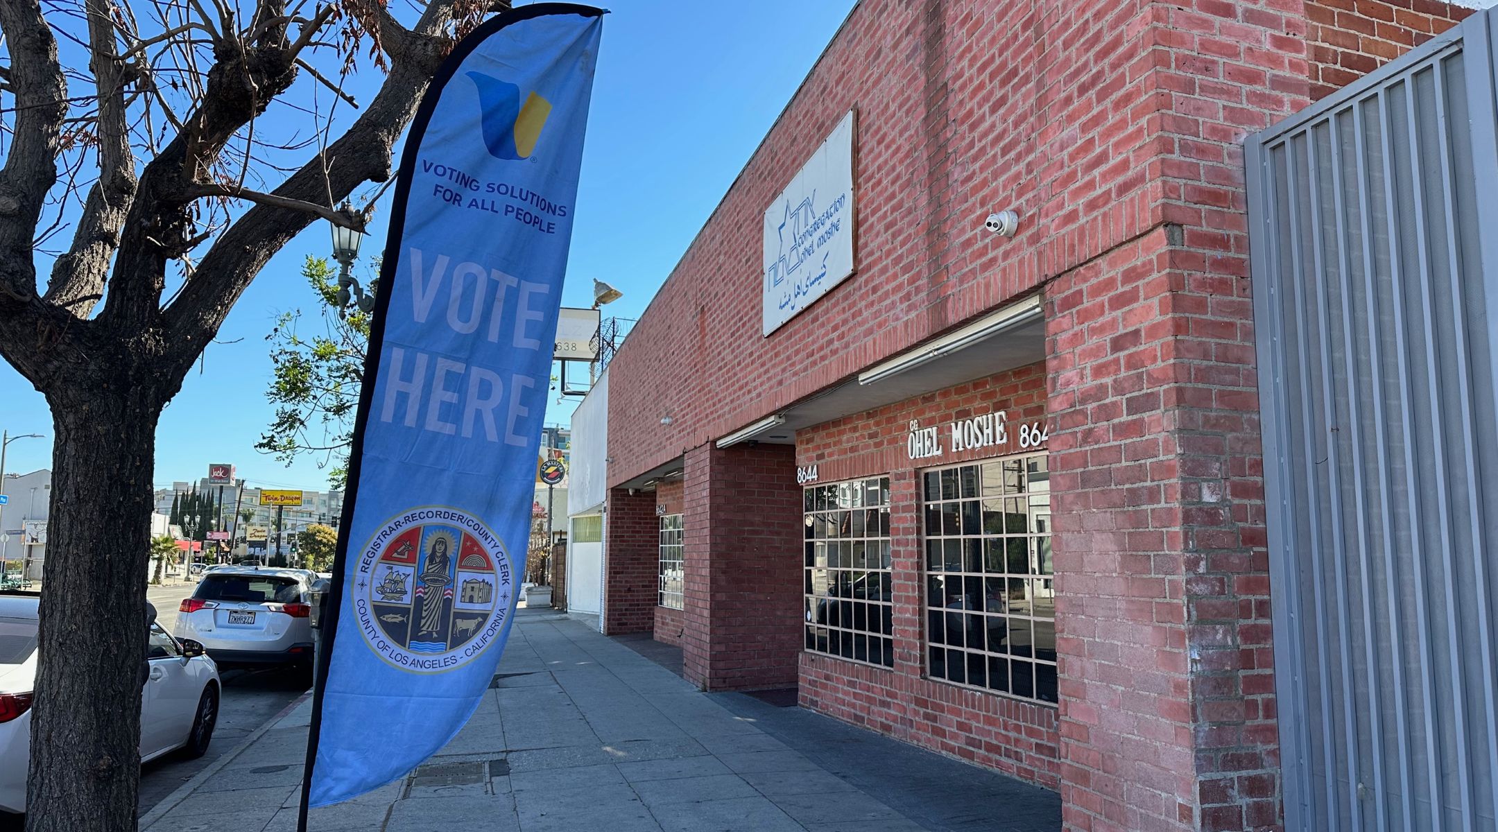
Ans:
[[[924,471],[927,673],[1056,702],[1044,453]]]

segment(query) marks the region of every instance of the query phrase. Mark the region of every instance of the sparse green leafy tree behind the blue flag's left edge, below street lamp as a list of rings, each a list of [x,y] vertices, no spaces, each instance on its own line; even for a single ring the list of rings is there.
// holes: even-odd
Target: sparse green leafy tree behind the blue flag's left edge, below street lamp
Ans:
[[[377,272],[377,262],[373,265]],[[271,385],[265,397],[276,416],[256,449],[291,464],[315,455],[328,468],[328,485],[343,488],[349,471],[354,413],[364,383],[370,316],[354,308],[337,314],[339,271],[324,257],[307,257],[303,278],[318,301],[316,316],[282,313],[265,337],[271,343]],[[377,290],[377,280],[370,280]]]

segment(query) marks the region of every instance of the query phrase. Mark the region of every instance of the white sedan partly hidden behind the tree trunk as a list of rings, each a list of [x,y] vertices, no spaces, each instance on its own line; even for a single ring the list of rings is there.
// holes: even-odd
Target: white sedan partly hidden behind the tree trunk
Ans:
[[[36,679],[34,594],[0,594],[0,811],[25,811]],[[190,639],[150,624],[150,675],[141,688],[141,762],[183,750],[201,757],[219,718],[219,667]]]

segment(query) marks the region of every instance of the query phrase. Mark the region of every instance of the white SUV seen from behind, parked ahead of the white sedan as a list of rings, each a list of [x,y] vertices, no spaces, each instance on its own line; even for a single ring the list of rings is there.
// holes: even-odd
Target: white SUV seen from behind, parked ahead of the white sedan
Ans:
[[[177,614],[177,637],[220,664],[312,664],[312,573],[231,566],[204,573]]]

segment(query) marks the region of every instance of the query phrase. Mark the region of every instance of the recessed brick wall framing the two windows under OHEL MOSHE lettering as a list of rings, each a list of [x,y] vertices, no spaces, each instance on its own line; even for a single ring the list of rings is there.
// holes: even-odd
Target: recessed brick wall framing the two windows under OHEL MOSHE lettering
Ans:
[[[800,700],[858,726],[1055,789],[1056,708],[924,678],[926,614],[917,467],[1019,452],[989,447],[911,461],[908,425],[939,426],[989,410],[1019,422],[1046,419],[1046,365],[1032,364],[941,392],[797,431],[797,465],[818,482],[890,476],[894,667],[801,652]],[[942,437],[947,441],[947,437]]]

